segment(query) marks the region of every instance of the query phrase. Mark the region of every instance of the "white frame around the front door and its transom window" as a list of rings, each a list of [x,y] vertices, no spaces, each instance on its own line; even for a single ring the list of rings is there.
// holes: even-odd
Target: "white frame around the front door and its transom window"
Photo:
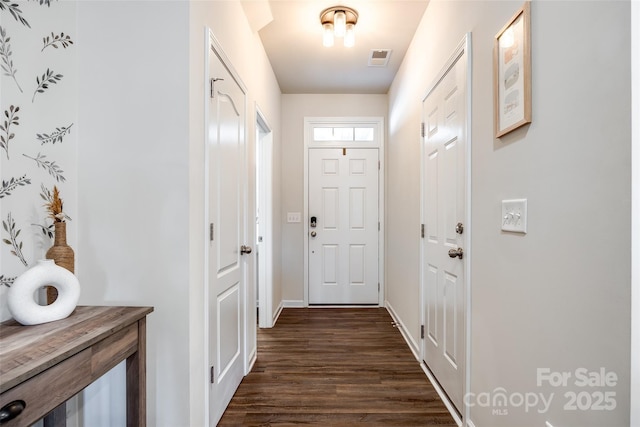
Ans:
[[[314,125],[372,125],[376,128],[377,137],[374,142],[366,144],[362,142],[328,142],[322,145],[314,143],[313,128]],[[384,150],[385,130],[384,117],[305,117],[304,118],[304,198],[303,198],[303,248],[304,248],[304,299],[303,305],[309,307],[309,149],[311,148],[377,148],[378,160],[380,161],[380,169],[378,170],[378,220],[380,221],[380,230],[378,230],[378,282],[380,283],[380,291],[378,292],[378,306],[385,306],[385,282],[384,282],[384,207],[385,207],[385,150]]]

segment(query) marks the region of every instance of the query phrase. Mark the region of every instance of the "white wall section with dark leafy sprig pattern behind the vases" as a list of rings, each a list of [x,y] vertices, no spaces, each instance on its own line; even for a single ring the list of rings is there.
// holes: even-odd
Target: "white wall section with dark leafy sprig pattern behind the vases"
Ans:
[[[75,1],[0,0],[0,321],[10,317],[8,287],[52,244],[44,205],[54,185],[75,216],[76,9]]]

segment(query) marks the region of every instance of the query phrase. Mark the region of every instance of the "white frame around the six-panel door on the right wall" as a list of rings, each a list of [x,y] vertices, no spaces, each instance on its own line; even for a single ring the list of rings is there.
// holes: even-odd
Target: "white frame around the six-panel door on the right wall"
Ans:
[[[463,234],[463,248],[465,250],[464,252],[464,258],[462,259],[463,263],[464,263],[464,298],[463,298],[463,304],[464,304],[464,345],[465,345],[465,350],[464,350],[464,357],[465,357],[465,361],[464,361],[464,379],[463,379],[463,389],[462,389],[462,395],[465,396],[469,390],[471,390],[471,251],[469,250],[471,248],[471,233],[472,233],[472,227],[471,227],[471,118],[472,118],[472,110],[471,110],[471,82],[472,82],[472,58],[471,58],[471,33],[466,33],[464,35],[464,37],[462,38],[462,40],[460,41],[460,43],[458,43],[458,45],[456,46],[453,54],[449,57],[449,59],[447,60],[447,62],[445,63],[445,66],[442,67],[442,69],[438,72],[437,77],[433,80],[433,82],[431,83],[431,85],[428,87],[428,89],[425,91],[424,96],[422,97],[422,102],[424,103],[424,100],[431,94],[431,92],[436,88],[436,86],[440,83],[440,81],[443,79],[443,77],[449,72],[449,70],[451,69],[451,67],[453,67],[455,65],[455,63],[458,61],[458,59],[462,56],[462,55],[466,55],[466,60],[467,60],[467,66],[466,66],[466,91],[467,91],[467,96],[465,99],[465,108],[466,108],[466,117],[465,117],[465,133],[466,133],[466,147],[465,147],[465,196],[464,196],[464,200],[465,200],[465,213],[464,213],[464,234]],[[421,113],[421,121],[424,118],[424,111],[422,111]],[[424,125],[424,123],[423,123]],[[425,166],[424,166],[424,137],[421,137],[420,139],[420,222],[422,224],[424,224],[424,192],[425,192],[425,188],[424,188],[424,174],[425,174]],[[424,318],[425,318],[425,306],[423,304],[424,301],[424,296],[425,296],[425,292],[426,290],[424,289],[424,245],[423,242],[421,240],[420,242],[420,323],[422,324],[424,322]],[[451,413],[451,415],[453,416],[453,418],[456,420],[456,422],[458,423],[458,425],[463,425],[463,422],[466,422],[466,420],[469,419],[469,412],[470,412],[470,408],[469,406],[466,404],[466,399],[462,399],[462,408],[460,408],[460,413],[462,414],[462,419],[459,419],[459,417],[457,416],[457,411],[455,410],[455,407],[453,406],[453,404],[451,402],[449,402],[449,399],[446,395],[446,393],[444,393],[444,391],[441,389],[440,385],[438,384],[437,381],[434,380],[434,378],[432,377],[429,369],[425,366],[424,363],[424,359],[425,359],[425,350],[424,350],[424,340],[425,338],[421,339],[420,342],[420,364],[422,365],[423,370],[425,371],[425,373],[427,374],[427,376],[429,377],[429,380],[433,383],[434,387],[436,388],[436,391],[438,392],[438,394],[440,395],[440,397],[442,398],[442,401],[444,402],[445,406],[447,407],[447,409],[449,410],[449,412]]]

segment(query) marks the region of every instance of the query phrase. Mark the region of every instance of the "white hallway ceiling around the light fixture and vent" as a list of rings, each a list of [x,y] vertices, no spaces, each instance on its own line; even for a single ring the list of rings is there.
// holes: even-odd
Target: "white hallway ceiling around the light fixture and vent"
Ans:
[[[283,93],[387,93],[428,0],[245,0]],[[359,13],[356,44],[322,45],[320,12]],[[273,18],[273,19],[271,19]],[[266,24],[266,25],[265,25]],[[391,49],[386,67],[369,67],[373,49]]]

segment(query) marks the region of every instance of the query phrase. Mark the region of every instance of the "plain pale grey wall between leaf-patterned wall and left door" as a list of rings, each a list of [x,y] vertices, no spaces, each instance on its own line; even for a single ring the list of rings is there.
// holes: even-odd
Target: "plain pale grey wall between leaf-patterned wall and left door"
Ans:
[[[147,411],[158,426],[185,425],[190,402],[188,12],[186,2],[78,3],[81,303],[155,307]],[[123,402],[92,393],[86,425],[122,424]]]

